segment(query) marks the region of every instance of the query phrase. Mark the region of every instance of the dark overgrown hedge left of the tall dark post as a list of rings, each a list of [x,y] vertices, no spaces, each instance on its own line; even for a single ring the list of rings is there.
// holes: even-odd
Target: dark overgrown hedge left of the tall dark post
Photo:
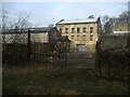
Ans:
[[[28,60],[26,44],[5,44],[2,47],[2,64],[8,66],[24,65]]]

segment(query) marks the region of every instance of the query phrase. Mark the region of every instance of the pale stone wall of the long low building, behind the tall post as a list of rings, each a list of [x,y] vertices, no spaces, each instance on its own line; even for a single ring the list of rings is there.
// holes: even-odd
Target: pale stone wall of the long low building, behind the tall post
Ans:
[[[27,43],[28,42],[28,33],[6,33],[6,34],[2,34],[2,37],[3,37],[2,38],[3,43]],[[48,43],[49,42],[48,32],[30,33],[30,41]]]

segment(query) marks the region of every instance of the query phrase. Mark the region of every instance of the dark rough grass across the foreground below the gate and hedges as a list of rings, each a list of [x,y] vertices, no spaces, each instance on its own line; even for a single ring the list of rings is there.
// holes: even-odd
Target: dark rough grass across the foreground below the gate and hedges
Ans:
[[[125,95],[127,84],[94,70],[52,66],[3,67],[3,95]]]

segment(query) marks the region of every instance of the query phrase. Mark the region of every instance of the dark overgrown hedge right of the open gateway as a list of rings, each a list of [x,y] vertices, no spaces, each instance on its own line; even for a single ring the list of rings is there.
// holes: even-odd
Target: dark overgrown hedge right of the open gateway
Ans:
[[[130,51],[126,47],[101,51],[96,68],[102,77],[109,77],[118,81],[128,81],[130,74]]]

